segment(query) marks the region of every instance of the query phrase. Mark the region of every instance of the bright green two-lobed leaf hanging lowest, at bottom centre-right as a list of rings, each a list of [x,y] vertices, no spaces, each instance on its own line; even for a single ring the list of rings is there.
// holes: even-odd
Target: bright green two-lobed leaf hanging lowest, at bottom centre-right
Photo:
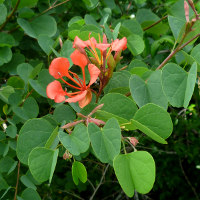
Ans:
[[[148,193],[155,181],[155,162],[146,151],[118,155],[114,159],[114,170],[122,189],[132,197],[134,190]]]

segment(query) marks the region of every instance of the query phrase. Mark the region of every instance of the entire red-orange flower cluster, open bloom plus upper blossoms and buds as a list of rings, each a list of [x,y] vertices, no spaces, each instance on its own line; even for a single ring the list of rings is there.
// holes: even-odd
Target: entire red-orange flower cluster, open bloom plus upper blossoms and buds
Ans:
[[[89,104],[92,99],[92,90],[90,86],[96,82],[99,77],[100,88],[98,95],[100,95],[101,91],[108,83],[116,63],[121,59],[122,50],[127,48],[126,44],[127,40],[125,37],[121,40],[116,39],[111,44],[108,44],[105,35],[103,36],[103,42],[101,42],[99,37],[99,43],[97,43],[94,37],[90,38],[90,35],[87,41],[83,41],[76,36],[73,43],[75,51],[70,55],[70,58],[74,65],[81,68],[83,79],[69,70],[70,63],[67,58],[55,58],[50,64],[49,73],[55,79],[60,79],[60,81],[77,91],[69,93],[66,89],[64,90],[62,88],[60,81],[55,80],[47,86],[47,97],[53,99],[56,103],[78,102],[81,108]],[[115,52],[114,56],[111,53],[113,51]],[[92,56],[88,55],[89,52]],[[86,85],[85,80],[86,66],[88,66],[90,74],[90,82],[88,85]],[[70,82],[66,81],[63,77],[67,77]],[[68,98],[66,98],[66,96]]]

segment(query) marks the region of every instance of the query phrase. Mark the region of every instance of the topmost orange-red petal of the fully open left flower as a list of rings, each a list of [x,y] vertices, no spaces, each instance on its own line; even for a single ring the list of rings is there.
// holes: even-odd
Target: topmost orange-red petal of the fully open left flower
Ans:
[[[70,58],[75,65],[84,68],[88,61],[84,54],[80,53],[77,49],[71,54]]]

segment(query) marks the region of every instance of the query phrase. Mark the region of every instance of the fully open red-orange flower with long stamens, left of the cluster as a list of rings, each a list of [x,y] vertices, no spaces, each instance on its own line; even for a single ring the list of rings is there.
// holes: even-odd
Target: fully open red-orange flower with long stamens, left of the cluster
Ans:
[[[55,80],[47,86],[47,96],[48,98],[53,99],[56,103],[61,103],[63,101],[68,103],[79,102],[79,106],[83,108],[91,102],[92,92],[90,86],[97,80],[100,70],[93,64],[88,65],[90,82],[86,85],[85,67],[88,64],[87,58],[78,50],[75,50],[70,57],[72,62],[81,68],[83,80],[76,73],[69,70],[70,64],[67,58],[55,58],[51,62],[49,73],[55,79],[61,79],[65,84],[78,91],[68,93],[66,90],[63,90],[61,83]],[[73,82],[73,84],[67,82],[63,77],[67,77]],[[66,99],[65,96],[68,96],[69,98]]]

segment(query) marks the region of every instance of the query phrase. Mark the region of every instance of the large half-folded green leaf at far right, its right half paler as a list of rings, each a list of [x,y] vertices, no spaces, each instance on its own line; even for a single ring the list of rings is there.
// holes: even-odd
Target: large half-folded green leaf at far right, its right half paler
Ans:
[[[163,90],[172,106],[187,108],[194,91],[196,76],[196,63],[193,63],[188,73],[174,63],[164,66],[162,70]]]

